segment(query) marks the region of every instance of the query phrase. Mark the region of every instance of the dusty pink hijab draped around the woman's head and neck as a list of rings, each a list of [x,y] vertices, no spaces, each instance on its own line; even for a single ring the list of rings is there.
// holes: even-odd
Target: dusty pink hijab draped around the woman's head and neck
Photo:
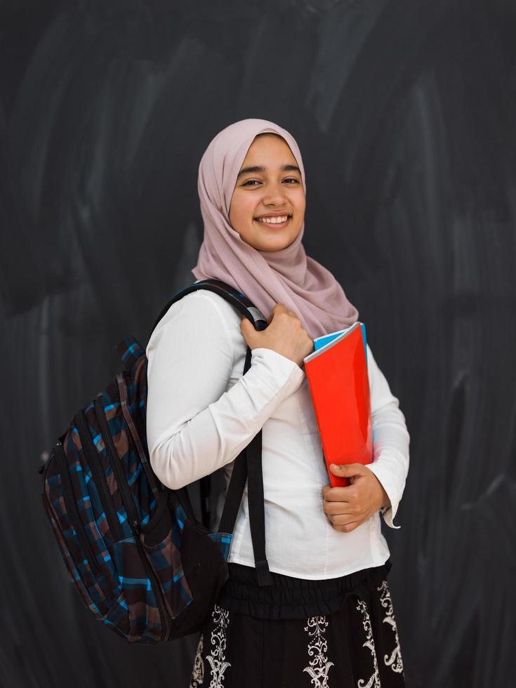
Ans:
[[[305,223],[290,246],[280,251],[254,249],[230,225],[237,174],[255,136],[266,131],[286,140],[298,162],[306,195],[301,153],[286,129],[266,119],[242,119],[227,126],[213,138],[199,164],[204,241],[192,273],[197,279],[222,279],[236,287],[266,318],[276,303],[283,303],[315,339],[350,326],[358,319],[358,311],[333,274],[306,255],[301,243]]]

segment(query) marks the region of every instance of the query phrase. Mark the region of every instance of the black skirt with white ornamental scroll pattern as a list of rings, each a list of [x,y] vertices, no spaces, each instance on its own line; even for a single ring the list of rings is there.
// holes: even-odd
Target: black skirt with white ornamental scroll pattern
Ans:
[[[190,688],[403,688],[390,560],[309,581],[229,564],[199,634]]]

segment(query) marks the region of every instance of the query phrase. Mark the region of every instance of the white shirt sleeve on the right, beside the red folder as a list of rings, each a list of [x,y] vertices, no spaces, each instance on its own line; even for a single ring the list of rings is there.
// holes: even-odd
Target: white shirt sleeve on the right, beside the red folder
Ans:
[[[373,463],[369,463],[367,468],[376,475],[390,499],[390,506],[382,510],[385,523],[391,528],[400,528],[392,521],[409,472],[410,435],[406,428],[405,416],[399,409],[399,399],[392,395],[369,344],[367,362],[373,423]]]

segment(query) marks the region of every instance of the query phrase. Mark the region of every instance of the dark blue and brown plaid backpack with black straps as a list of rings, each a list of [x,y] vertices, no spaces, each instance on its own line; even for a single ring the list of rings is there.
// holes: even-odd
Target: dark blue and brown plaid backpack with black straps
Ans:
[[[256,329],[265,318],[218,279],[208,289]],[[232,531],[249,477],[251,539],[258,583],[270,584],[265,557],[261,430],[237,456],[216,532],[208,527],[209,476],[199,482],[201,521],[187,487],[171,490],[150,465],[146,440],[147,357],[134,337],[116,347],[124,370],[74,414],[39,468],[41,498],[67,571],[91,613],[128,642],[154,644],[198,633],[228,577]],[[248,347],[244,374],[251,366]]]

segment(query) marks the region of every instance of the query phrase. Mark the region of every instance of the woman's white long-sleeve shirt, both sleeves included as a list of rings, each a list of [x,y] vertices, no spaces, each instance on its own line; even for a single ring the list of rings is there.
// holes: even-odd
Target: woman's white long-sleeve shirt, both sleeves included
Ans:
[[[199,280],[197,280],[199,281]],[[268,314],[264,314],[267,317]],[[383,564],[389,557],[380,512],[348,533],[323,510],[329,484],[305,371],[268,348],[247,345],[242,317],[218,294],[195,291],[173,303],[147,344],[147,442],[161,482],[180,489],[224,467],[262,429],[265,544],[271,571],[298,578],[336,578]],[[409,470],[409,432],[397,397],[368,345],[373,463],[392,522]],[[219,503],[220,520],[223,501]],[[218,522],[217,521],[217,522]],[[247,486],[228,562],[254,567]]]

